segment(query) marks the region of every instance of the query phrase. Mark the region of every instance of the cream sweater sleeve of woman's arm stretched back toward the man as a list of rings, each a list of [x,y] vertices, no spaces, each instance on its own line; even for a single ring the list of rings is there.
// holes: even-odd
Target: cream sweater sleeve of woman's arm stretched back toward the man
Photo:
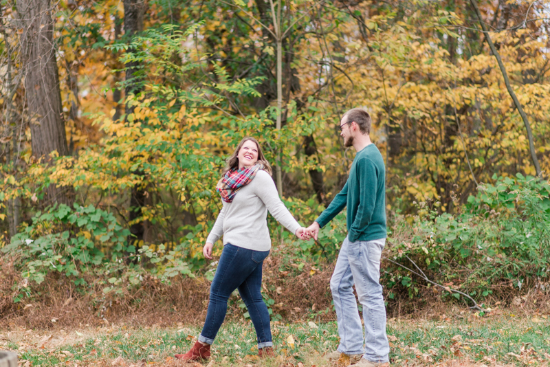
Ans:
[[[284,225],[287,230],[292,234],[296,234],[296,230],[302,226],[294,219],[294,216],[290,214],[283,201],[279,198],[277,188],[271,176],[267,172],[261,170],[256,173],[256,177],[254,177],[254,181],[255,180],[259,180],[259,182],[257,182],[259,184],[255,186],[256,195],[263,201],[267,210],[269,210],[272,216],[274,216],[279,223]]]

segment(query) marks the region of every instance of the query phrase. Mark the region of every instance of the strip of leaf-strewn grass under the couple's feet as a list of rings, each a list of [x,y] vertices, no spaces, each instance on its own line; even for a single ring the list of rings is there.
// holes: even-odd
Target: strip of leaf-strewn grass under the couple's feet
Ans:
[[[466,314],[469,315],[469,314]],[[550,320],[547,316],[517,318],[500,315],[442,321],[389,320],[391,361],[394,366],[433,365],[449,360],[516,366],[550,364]],[[0,331],[0,348],[17,350],[30,366],[111,366],[117,357],[135,366],[176,364],[172,356],[190,348],[199,327]],[[338,346],[336,322],[272,323],[278,357],[259,363],[256,334],[250,322],[225,323],[214,344],[210,366],[326,366],[322,354]],[[294,348],[292,348],[292,335]],[[120,361],[120,360],[119,360]]]

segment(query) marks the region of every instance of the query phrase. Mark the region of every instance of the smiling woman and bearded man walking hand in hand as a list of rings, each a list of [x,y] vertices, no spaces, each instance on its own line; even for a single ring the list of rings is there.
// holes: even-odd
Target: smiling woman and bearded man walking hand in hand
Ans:
[[[210,345],[235,289],[239,289],[256,329],[259,356],[273,356],[270,314],[261,295],[263,260],[271,249],[267,210],[299,238],[317,239],[319,229],[347,207],[348,236],[330,281],[340,346],[327,358],[336,361],[344,354],[355,366],[388,364],[386,308],[379,282],[380,258],[386,243],[384,159],[371,142],[371,116],[364,109],[344,113],[340,131],[344,146],[353,146],[357,151],[349,178],[329,207],[307,228],[298,224],[279,199],[260,144],[253,137],[241,140],[217,184],[223,208],[203,248],[204,256],[212,259],[213,244],[223,236],[224,247],[210,286],[206,321],[198,341],[188,353],[175,355],[177,359],[191,362],[210,357]],[[363,307],[365,334],[353,295],[354,284]]]

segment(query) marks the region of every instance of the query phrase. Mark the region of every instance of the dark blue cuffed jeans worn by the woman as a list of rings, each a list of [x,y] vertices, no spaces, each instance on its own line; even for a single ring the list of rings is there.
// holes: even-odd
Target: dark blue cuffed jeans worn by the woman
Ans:
[[[270,313],[261,293],[263,260],[269,254],[269,251],[243,249],[230,243],[223,247],[218,269],[210,286],[210,302],[206,321],[199,335],[200,342],[214,343],[228,311],[228,298],[235,289],[239,289],[256,329],[258,348],[273,346]]]

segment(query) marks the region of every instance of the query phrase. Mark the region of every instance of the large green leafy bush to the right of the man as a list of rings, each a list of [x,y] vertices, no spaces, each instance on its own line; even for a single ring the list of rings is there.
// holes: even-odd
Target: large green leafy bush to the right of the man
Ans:
[[[412,260],[428,278],[477,299],[503,283],[521,289],[525,282],[548,282],[549,183],[520,174],[494,179],[480,186],[459,214],[437,214],[419,205],[424,214],[415,217],[410,241],[391,249],[392,260],[415,269]],[[423,282],[394,265],[384,278],[388,287],[406,289],[410,297]]]

